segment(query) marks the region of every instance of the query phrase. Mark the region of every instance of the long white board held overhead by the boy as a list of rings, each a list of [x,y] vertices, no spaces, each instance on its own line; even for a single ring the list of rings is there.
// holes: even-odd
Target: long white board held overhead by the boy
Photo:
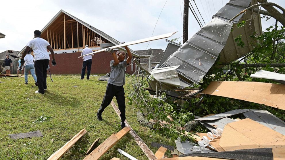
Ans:
[[[135,40],[135,41],[132,41],[132,42],[118,44],[116,46],[111,46],[110,48],[114,49],[114,48],[119,48],[119,47],[124,47],[124,46],[130,46],[130,45],[133,45],[133,44],[139,44],[139,43],[143,43],[143,42],[149,42],[149,41],[153,41],[153,40],[159,40],[159,39],[163,39],[163,38],[168,38],[168,37],[174,35],[175,33],[176,32],[171,32],[171,33],[167,33],[167,34],[161,34],[159,36],[153,36],[153,37],[149,37],[149,38]],[[89,54],[85,54],[83,56],[87,56],[87,55],[94,54],[94,53],[99,53],[99,52],[104,52],[104,51],[105,51],[105,49],[101,49],[101,50],[97,50],[97,51],[89,53]],[[78,58],[83,57],[83,56],[79,56]]]

